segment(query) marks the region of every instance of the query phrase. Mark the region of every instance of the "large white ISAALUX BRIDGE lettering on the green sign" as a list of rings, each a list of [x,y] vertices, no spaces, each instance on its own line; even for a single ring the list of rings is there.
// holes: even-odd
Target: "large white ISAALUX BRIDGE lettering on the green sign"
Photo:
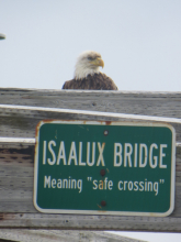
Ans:
[[[56,153],[55,147],[58,146]],[[114,151],[113,166],[114,167],[146,167],[151,168],[167,168],[163,158],[167,154],[167,144],[150,145],[144,143],[114,143],[112,147]],[[76,165],[76,166],[105,166],[104,151],[105,143],[101,142],[75,142],[66,146],[64,141],[58,144],[52,140],[43,142],[43,164],[46,165]],[[110,150],[111,147],[108,146]],[[86,150],[86,158],[82,157],[82,151]],[[66,151],[68,151],[66,153]],[[95,152],[97,151],[97,152]],[[49,157],[47,157],[47,152]],[[156,155],[157,153],[157,155]]]

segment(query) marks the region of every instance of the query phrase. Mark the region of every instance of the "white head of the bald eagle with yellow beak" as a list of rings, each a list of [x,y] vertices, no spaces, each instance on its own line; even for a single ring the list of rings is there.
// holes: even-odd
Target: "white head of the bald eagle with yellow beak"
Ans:
[[[100,73],[99,67],[104,67],[104,62],[101,58],[101,55],[98,52],[87,51],[79,55],[76,69],[75,78],[82,79],[86,78],[89,74],[93,75]]]

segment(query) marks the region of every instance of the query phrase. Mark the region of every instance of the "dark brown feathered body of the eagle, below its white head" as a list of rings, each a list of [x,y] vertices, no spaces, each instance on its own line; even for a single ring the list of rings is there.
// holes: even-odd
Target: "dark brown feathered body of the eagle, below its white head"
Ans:
[[[103,73],[88,75],[82,79],[72,79],[64,84],[63,89],[117,90],[114,81]]]

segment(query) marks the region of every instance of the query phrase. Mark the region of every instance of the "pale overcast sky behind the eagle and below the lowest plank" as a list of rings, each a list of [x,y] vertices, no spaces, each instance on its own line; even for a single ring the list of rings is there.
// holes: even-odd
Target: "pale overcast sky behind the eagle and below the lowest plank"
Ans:
[[[92,50],[120,90],[181,91],[181,0],[0,0],[0,33],[1,87],[61,89]]]

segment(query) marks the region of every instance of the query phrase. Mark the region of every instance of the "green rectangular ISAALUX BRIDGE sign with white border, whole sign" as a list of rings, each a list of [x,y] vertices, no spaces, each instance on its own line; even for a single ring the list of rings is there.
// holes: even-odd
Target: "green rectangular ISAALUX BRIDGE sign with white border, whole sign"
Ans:
[[[34,206],[50,213],[168,216],[174,142],[169,124],[42,121]]]

